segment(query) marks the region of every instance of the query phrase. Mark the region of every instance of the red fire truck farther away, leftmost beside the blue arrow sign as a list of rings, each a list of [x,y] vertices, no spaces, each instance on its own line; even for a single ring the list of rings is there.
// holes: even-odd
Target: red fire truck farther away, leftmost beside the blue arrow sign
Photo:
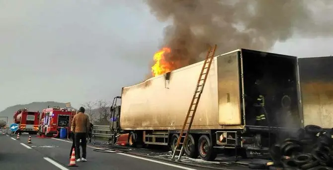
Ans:
[[[18,124],[17,132],[27,132],[29,134],[37,134],[39,130],[39,112],[28,111],[28,109],[20,109],[14,113],[13,122]]]

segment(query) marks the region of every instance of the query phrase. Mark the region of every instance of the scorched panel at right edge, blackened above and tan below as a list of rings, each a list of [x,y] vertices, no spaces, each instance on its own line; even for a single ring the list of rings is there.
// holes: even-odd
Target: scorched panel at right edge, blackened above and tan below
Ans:
[[[304,125],[333,127],[333,57],[299,58]]]

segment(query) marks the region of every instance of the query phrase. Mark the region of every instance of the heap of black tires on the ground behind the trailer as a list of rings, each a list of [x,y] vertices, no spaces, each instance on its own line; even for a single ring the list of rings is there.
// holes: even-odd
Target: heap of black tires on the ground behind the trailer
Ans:
[[[293,138],[275,144],[270,149],[274,162],[270,170],[333,170],[333,128],[307,125]]]

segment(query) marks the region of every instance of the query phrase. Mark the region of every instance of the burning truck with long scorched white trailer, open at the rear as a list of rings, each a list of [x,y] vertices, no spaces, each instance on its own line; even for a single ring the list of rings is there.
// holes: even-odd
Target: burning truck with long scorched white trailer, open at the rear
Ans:
[[[166,145],[174,151],[203,64],[123,87],[115,98],[121,106],[111,107],[117,144]],[[297,57],[247,49],[214,57],[185,154],[206,161],[229,151],[268,158],[275,141],[303,127],[298,82]]]

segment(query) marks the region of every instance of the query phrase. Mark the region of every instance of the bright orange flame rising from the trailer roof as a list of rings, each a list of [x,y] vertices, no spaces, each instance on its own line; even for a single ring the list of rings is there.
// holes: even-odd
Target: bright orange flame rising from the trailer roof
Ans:
[[[152,66],[152,74],[153,76],[158,76],[171,71],[171,65],[167,62],[165,55],[170,53],[170,48],[162,48],[162,50],[158,51],[154,55],[155,64]]]

